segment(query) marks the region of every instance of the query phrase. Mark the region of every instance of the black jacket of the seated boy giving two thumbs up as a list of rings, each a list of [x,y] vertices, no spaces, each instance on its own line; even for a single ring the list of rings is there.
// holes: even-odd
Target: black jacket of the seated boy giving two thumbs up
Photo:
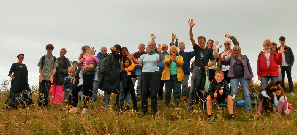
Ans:
[[[220,95],[221,87],[223,87],[223,94]],[[214,99],[214,92],[217,90],[217,98],[226,98],[230,95],[230,89],[228,86],[228,82],[223,80],[222,82],[218,83],[215,79],[213,79],[208,88],[208,95]]]

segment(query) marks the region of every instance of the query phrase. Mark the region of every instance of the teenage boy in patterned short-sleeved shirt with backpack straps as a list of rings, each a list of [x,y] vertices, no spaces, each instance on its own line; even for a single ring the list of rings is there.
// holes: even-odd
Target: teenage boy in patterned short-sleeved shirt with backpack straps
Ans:
[[[56,68],[58,67],[58,61],[56,57],[52,55],[54,46],[48,44],[45,47],[47,53],[42,56],[37,64],[39,66],[39,96],[38,96],[38,106],[48,106],[49,90],[53,83],[53,77],[56,73]]]

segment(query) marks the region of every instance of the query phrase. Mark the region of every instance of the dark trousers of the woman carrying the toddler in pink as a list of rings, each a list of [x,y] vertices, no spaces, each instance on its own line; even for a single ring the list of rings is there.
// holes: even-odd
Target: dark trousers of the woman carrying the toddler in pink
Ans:
[[[78,92],[81,87],[83,87],[83,101],[84,105],[87,108],[87,102],[89,100],[92,100],[92,94],[93,94],[93,79],[95,75],[94,74],[83,74],[83,86],[77,87],[79,83],[79,78],[76,78],[75,84],[72,88],[72,101],[73,101],[73,107],[77,107],[78,102]]]

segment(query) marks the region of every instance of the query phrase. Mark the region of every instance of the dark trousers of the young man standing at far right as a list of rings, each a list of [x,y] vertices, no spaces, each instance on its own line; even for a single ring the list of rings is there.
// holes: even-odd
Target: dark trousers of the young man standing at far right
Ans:
[[[285,72],[287,73],[288,77],[288,82],[289,82],[289,87],[290,87],[290,92],[294,92],[294,86],[293,86],[293,81],[292,81],[292,66],[281,66],[280,67],[282,71],[282,88],[285,90]]]

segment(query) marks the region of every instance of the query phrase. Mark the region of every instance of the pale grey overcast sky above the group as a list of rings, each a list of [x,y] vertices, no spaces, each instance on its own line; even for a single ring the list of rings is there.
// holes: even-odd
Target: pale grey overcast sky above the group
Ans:
[[[38,84],[37,63],[46,54],[47,44],[54,45],[54,56],[59,57],[64,47],[66,57],[78,61],[83,45],[94,47],[96,53],[102,46],[110,48],[115,44],[136,52],[140,43],[147,46],[150,34],[157,36],[157,44],[169,45],[174,33],[179,42],[186,44],[185,51],[192,51],[187,22],[191,18],[197,22],[194,39],[205,36],[222,45],[228,39],[224,34],[235,36],[256,76],[257,57],[265,39],[279,46],[279,37],[284,36],[285,45],[297,53],[296,5],[296,0],[1,1],[0,79],[10,78],[7,75],[11,64],[18,61],[19,53],[24,53],[29,84]],[[292,67],[293,79],[296,67]]]

